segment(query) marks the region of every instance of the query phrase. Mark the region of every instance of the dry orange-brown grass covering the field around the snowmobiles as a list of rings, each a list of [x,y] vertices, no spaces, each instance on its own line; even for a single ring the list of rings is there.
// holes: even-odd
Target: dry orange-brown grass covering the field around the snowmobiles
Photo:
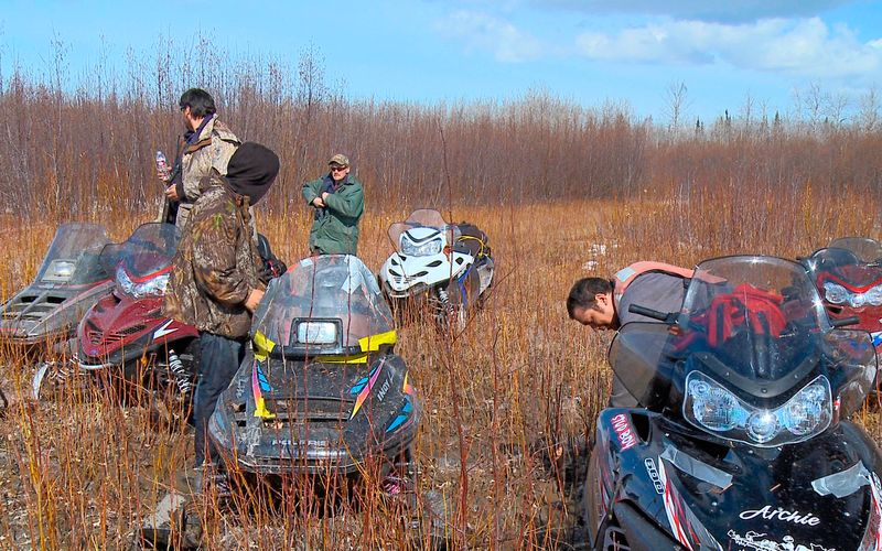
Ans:
[[[455,509],[449,526],[456,544],[556,547],[573,522],[570,480],[548,457],[592,430],[607,392],[609,335],[583,331],[563,307],[588,262],[596,262],[591,271],[609,273],[644,258],[689,264],[736,251],[794,257],[836,235],[878,237],[868,222],[874,206],[847,195],[842,203],[868,216],[837,215],[842,203],[761,203],[761,195],[751,195],[752,215],[732,206],[744,194],[731,188],[688,204],[671,193],[653,201],[453,208],[454,219],[474,222],[491,236],[496,284],[463,334],[450,339],[417,323],[400,329],[398,352],[423,400],[415,447],[419,495],[434,490]],[[402,214],[370,210],[365,218],[359,250],[369,267],[377,269],[390,251],[386,227]],[[259,219],[289,261],[305,251],[306,215],[304,208]],[[125,236],[142,219],[120,216],[112,233]],[[0,270],[3,289],[17,289],[35,272],[51,231],[11,219],[0,229],[19,244]],[[600,244],[604,255],[592,252]],[[3,388],[21,395],[30,371],[9,354],[3,365]],[[873,413],[861,419],[879,435]],[[40,406],[15,400],[0,426],[0,547],[125,545],[172,485],[190,440],[158,430],[148,410],[120,408],[101,396]],[[244,547],[259,538],[267,548],[420,547],[408,542],[399,509],[365,496],[334,516],[302,505],[281,511],[259,503],[209,507],[207,545]]]

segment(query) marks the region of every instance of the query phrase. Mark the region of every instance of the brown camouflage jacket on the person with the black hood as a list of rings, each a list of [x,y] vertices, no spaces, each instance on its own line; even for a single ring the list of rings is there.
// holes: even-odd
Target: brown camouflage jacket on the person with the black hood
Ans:
[[[245,301],[252,289],[263,289],[249,201],[216,170],[200,182],[200,191],[172,260],[162,312],[201,332],[240,338],[251,326]]]

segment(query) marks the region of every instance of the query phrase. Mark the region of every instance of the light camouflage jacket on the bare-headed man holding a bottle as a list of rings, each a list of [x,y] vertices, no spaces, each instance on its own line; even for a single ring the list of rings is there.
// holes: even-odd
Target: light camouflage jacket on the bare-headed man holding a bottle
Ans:
[[[191,215],[193,204],[200,197],[200,182],[215,169],[226,175],[229,158],[240,144],[236,134],[213,116],[200,132],[195,143],[184,150],[181,159],[181,183],[178,184],[178,207],[175,226],[183,230]]]

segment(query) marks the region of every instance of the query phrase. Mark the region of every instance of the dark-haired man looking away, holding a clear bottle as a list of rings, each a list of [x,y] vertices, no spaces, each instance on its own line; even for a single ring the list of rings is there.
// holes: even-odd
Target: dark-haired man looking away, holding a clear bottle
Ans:
[[[226,175],[229,159],[239,147],[239,139],[217,120],[214,98],[207,91],[191,88],[181,96],[179,106],[186,131],[181,156],[165,188],[165,197],[176,204],[174,224],[183,230],[193,204],[200,196],[200,180],[211,174],[212,169],[222,176]]]

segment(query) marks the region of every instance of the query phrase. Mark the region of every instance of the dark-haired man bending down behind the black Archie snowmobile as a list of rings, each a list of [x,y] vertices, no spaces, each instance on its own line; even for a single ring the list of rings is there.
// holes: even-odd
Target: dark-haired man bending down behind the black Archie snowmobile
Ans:
[[[635,262],[616,272],[612,280],[583,278],[567,296],[570,320],[593,329],[619,329],[630,322],[657,322],[628,311],[632,304],[658,312],[679,312],[692,270],[663,262]],[[635,408],[637,399],[613,374],[612,408]]]

